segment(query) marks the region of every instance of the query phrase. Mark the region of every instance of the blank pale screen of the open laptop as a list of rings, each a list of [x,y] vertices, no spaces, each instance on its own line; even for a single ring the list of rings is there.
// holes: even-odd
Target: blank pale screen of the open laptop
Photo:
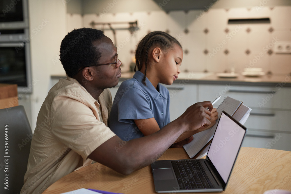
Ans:
[[[224,182],[228,181],[245,132],[235,121],[221,114],[207,156]]]

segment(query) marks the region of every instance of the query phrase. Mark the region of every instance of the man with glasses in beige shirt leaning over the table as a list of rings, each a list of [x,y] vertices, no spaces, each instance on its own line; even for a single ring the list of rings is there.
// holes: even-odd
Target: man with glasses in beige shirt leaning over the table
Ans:
[[[122,140],[107,127],[112,99],[106,88],[121,76],[112,41],[99,30],[75,29],[61,43],[60,60],[68,79],[53,86],[40,108],[21,193],[42,193],[92,161],[128,175],[151,164],[182,133],[210,124],[211,102],[196,103],[160,131],[119,148]]]

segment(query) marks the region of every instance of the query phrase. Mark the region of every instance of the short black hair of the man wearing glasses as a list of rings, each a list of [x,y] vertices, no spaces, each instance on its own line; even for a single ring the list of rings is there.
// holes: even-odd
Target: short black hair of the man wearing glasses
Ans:
[[[69,77],[78,70],[97,64],[101,53],[93,46],[93,41],[103,38],[104,32],[92,28],[74,29],[62,40],[60,61]]]

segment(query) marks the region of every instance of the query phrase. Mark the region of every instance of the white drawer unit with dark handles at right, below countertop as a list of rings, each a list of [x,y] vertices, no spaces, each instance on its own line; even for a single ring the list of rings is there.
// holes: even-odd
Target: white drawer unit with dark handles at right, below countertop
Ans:
[[[291,88],[198,84],[198,101],[219,95],[232,97],[252,108],[244,124],[248,128],[243,146],[291,151]]]

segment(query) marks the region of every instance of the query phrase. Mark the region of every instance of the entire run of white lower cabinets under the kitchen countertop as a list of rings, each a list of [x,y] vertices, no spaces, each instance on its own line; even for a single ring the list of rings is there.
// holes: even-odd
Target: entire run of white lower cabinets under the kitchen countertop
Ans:
[[[121,83],[121,82],[120,82]],[[112,100],[118,90],[110,88]],[[244,147],[260,147],[291,151],[291,88],[232,86],[219,84],[173,83],[164,85],[170,93],[170,118],[178,118],[184,111],[206,100],[221,99],[214,104],[217,107],[229,96],[242,101],[252,108],[244,124],[248,128]],[[194,118],[195,119],[195,118]]]

